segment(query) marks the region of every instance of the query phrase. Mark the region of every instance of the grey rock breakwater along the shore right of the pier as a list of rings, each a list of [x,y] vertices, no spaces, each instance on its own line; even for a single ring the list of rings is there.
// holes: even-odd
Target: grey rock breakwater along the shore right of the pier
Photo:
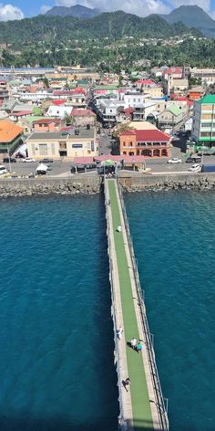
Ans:
[[[133,176],[124,174],[120,176],[119,181],[126,192],[215,189],[215,173],[143,174]]]

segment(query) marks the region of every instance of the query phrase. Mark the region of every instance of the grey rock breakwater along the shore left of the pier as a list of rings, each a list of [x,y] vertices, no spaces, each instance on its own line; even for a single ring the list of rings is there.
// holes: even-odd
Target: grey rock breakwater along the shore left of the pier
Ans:
[[[0,180],[0,197],[46,194],[97,194],[100,191],[98,176],[72,178],[27,178]]]

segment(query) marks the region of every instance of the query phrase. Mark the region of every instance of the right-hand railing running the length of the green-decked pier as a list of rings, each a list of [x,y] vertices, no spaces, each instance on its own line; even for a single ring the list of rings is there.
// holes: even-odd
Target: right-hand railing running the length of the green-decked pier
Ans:
[[[124,224],[125,224],[127,237],[128,237],[128,246],[130,249],[132,268],[134,271],[134,277],[135,277],[135,282],[136,282],[136,288],[137,288],[137,294],[138,294],[138,306],[139,306],[139,310],[140,310],[142,328],[143,328],[145,343],[146,343],[146,347],[147,347],[148,363],[149,363],[149,369],[150,369],[150,374],[151,374],[151,380],[153,383],[153,389],[154,389],[154,394],[155,394],[155,399],[156,399],[156,406],[157,406],[158,413],[159,413],[159,422],[160,422],[159,426],[160,426],[161,430],[168,431],[169,430],[168,400],[167,400],[167,406],[166,406],[163,395],[162,395],[162,391],[161,391],[161,385],[159,382],[159,372],[158,372],[158,368],[157,368],[157,364],[156,364],[156,360],[155,360],[153,341],[152,341],[151,333],[150,333],[149,327],[148,327],[148,319],[147,319],[147,314],[146,314],[145,301],[143,298],[143,291],[141,289],[141,285],[140,285],[139,277],[138,277],[138,266],[137,266],[137,261],[136,261],[135,254],[134,254],[132,239],[130,236],[130,230],[129,230],[129,225],[128,225],[128,216],[127,216],[126,207],[124,204],[123,195],[121,192],[121,186],[118,182],[118,179],[117,179],[117,183],[118,183],[118,194],[119,194],[120,204],[121,204],[122,213],[123,213],[123,217],[124,217]]]

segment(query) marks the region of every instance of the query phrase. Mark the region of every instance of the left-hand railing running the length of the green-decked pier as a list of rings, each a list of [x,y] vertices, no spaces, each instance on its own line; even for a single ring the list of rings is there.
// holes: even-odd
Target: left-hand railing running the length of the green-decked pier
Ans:
[[[107,179],[104,178],[104,190],[105,190],[105,203],[106,206],[108,205],[108,201],[109,201],[109,196],[108,196],[108,187],[107,187]],[[119,403],[119,415],[118,415],[118,425],[121,431],[127,431],[128,426],[127,426],[127,421],[125,420],[125,415],[124,415],[124,410],[123,410],[123,402],[122,402],[122,380],[124,378],[124,376],[121,375],[121,370],[120,370],[120,363],[119,363],[119,350],[118,350],[118,336],[117,336],[117,332],[118,332],[118,324],[117,324],[117,320],[116,320],[116,313],[114,312],[114,306],[116,304],[116,298],[115,298],[115,292],[113,289],[114,286],[114,281],[113,281],[113,273],[114,273],[114,269],[113,269],[113,260],[111,258],[112,253],[111,253],[111,241],[109,240],[110,238],[110,225],[109,225],[109,218],[107,216],[107,211],[106,211],[106,219],[107,219],[107,247],[108,247],[108,257],[109,257],[109,281],[110,281],[110,289],[111,289],[111,300],[112,300],[112,307],[111,307],[111,315],[112,315],[112,319],[113,319],[113,326],[114,326],[114,343],[115,343],[115,364],[116,364],[116,368],[117,368],[117,373],[118,373],[118,403]]]

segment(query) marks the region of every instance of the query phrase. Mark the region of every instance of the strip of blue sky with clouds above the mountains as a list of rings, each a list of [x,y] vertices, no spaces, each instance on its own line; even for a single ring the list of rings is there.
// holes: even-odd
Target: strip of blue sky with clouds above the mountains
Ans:
[[[54,5],[86,5],[104,10],[122,9],[126,12],[147,16],[149,14],[165,14],[179,5],[200,5],[215,18],[215,0],[14,0],[12,2],[0,0],[0,21],[21,19],[45,13]]]

